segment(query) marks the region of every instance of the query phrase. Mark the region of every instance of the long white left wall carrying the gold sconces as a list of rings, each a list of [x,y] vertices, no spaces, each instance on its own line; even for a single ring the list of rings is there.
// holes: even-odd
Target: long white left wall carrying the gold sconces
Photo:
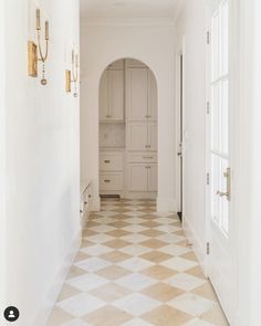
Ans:
[[[50,20],[45,87],[27,72],[32,1],[4,2],[7,302],[21,312],[15,325],[45,325],[80,234],[79,99],[64,92],[65,49],[79,43],[77,1],[40,1]]]

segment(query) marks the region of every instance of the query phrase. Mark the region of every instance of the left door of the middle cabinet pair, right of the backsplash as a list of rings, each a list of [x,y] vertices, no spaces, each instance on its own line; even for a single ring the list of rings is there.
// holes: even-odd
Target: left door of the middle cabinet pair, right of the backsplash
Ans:
[[[148,149],[147,123],[132,123],[128,125],[128,150]]]

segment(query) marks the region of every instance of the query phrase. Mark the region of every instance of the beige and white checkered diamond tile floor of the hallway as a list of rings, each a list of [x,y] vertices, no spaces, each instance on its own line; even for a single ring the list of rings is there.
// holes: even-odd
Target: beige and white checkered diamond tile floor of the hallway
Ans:
[[[178,218],[154,201],[104,201],[48,326],[225,326]]]

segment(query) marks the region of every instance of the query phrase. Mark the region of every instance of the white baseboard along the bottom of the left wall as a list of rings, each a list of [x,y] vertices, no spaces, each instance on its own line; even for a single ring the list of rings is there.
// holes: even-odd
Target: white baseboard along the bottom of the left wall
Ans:
[[[58,301],[58,297],[61,293],[62,286],[66,280],[67,273],[74,262],[75,255],[79,252],[81,245],[82,233],[80,232],[72,245],[70,246],[70,251],[64,256],[63,264],[59,269],[58,273],[54,275],[52,284],[50,284],[49,291],[45,293],[39,309],[32,319],[33,325],[45,326],[48,323],[48,318],[50,317],[52,309]]]

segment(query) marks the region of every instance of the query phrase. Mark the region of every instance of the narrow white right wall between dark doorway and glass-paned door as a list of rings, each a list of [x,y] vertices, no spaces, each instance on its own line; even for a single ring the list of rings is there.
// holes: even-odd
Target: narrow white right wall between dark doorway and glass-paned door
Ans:
[[[184,225],[203,264],[206,252],[206,14],[205,0],[185,1],[177,20],[177,54],[185,36]]]

